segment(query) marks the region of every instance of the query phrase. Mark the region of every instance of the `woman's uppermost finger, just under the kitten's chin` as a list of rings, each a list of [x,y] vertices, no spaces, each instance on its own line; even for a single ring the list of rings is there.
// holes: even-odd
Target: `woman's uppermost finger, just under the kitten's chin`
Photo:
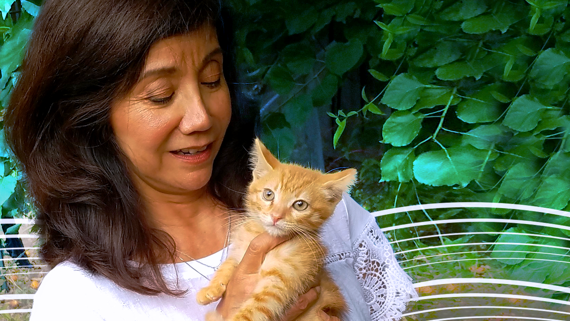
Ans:
[[[255,236],[255,238],[251,240],[249,247],[247,247],[241,263],[239,263],[238,272],[241,272],[241,274],[255,274],[259,272],[259,267],[261,263],[263,263],[267,252],[288,239],[290,238],[271,236],[267,233]]]

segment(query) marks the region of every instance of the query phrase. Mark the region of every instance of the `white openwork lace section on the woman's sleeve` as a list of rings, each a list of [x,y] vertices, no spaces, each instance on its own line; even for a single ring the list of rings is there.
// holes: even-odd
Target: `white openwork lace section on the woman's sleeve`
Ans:
[[[372,321],[400,320],[408,301],[417,298],[416,289],[398,264],[388,239],[372,224],[369,222],[352,244],[356,277]]]

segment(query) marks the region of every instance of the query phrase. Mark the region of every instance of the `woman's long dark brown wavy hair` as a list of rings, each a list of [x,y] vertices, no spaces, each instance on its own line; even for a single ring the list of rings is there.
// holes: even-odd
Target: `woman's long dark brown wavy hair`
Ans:
[[[255,112],[239,104],[233,89],[224,16],[216,0],[44,3],[5,130],[42,222],[40,253],[51,267],[71,260],[141,294],[182,294],[160,273],[153,249],[172,258],[174,244],[143,219],[145,208],[113,137],[109,109],[135,85],[154,42],[214,25],[233,107],[209,188],[226,206],[241,207]]]

